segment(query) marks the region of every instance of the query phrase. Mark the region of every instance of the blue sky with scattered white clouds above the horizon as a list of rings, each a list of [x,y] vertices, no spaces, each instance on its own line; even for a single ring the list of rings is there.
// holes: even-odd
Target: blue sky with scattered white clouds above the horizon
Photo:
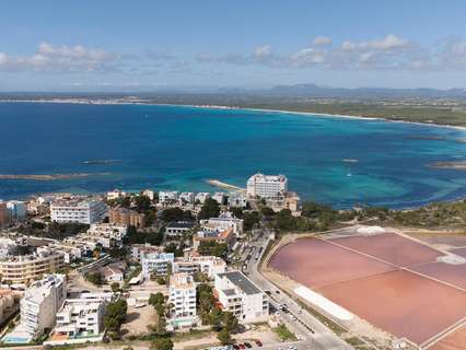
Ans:
[[[0,91],[466,88],[464,0],[2,0]]]

